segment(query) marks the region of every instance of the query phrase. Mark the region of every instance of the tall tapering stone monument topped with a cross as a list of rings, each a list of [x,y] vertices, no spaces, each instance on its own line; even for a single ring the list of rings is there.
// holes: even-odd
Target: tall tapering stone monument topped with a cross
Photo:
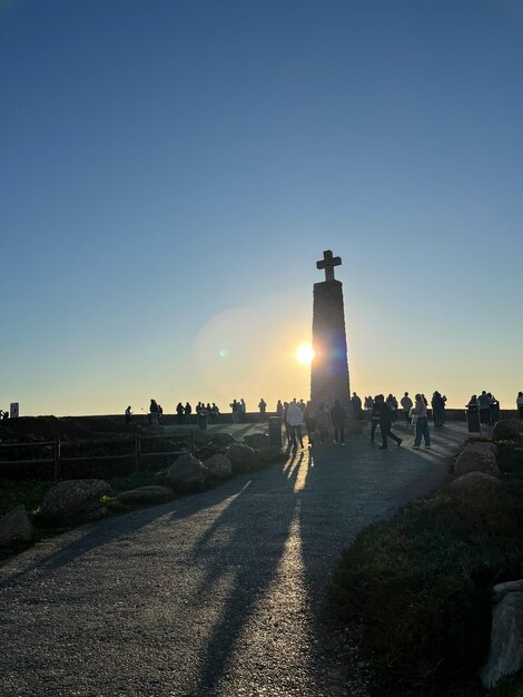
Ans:
[[[325,269],[325,281],[314,284],[313,348],[315,356],[310,370],[310,401],[314,405],[328,401],[333,405],[338,399],[349,408],[347,340],[343,310],[343,286],[334,278],[334,267],[342,264],[339,256],[333,257],[330,249],[316,262]]]

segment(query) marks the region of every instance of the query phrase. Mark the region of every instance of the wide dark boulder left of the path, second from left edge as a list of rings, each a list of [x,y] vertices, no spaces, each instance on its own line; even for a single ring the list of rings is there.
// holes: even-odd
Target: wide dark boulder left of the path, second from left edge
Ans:
[[[101,479],[66,480],[47,491],[41,513],[63,521],[98,520],[107,513],[100,499],[108,492],[109,484]]]

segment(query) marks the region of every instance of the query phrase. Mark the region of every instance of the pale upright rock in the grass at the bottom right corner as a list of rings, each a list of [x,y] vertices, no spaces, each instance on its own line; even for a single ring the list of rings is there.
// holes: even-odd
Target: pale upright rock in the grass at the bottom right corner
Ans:
[[[492,612],[489,658],[481,670],[486,688],[523,667],[523,592],[505,595]]]

